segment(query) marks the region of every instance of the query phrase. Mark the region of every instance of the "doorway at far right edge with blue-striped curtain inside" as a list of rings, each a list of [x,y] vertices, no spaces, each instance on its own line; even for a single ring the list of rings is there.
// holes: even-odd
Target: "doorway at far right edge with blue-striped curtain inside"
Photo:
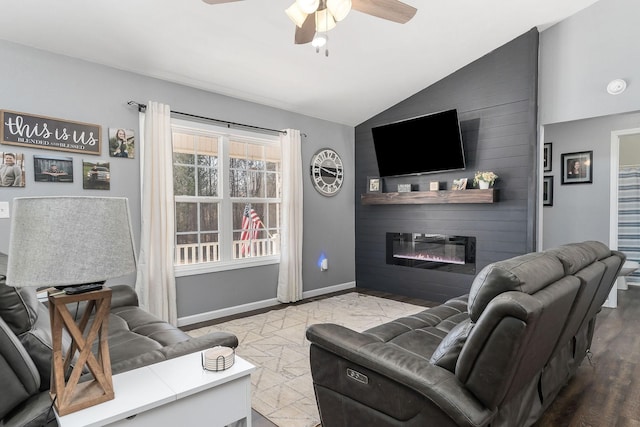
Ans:
[[[640,128],[611,132],[611,214],[609,246],[627,255],[629,261],[640,261]],[[640,285],[640,272],[625,278]],[[609,299],[617,305],[617,289]]]

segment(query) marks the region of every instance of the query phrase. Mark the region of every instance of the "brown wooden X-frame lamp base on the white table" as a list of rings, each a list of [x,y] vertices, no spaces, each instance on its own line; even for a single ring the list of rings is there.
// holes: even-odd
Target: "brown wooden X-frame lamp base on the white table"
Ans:
[[[73,318],[67,304],[86,301],[79,323]],[[57,290],[49,291],[49,315],[53,360],[51,369],[51,398],[59,415],[66,415],[114,398],[111,378],[111,359],[107,345],[108,317],[111,306],[111,289],[102,288],[83,294],[67,295]],[[89,328],[89,318],[94,314]],[[62,354],[62,334],[66,329],[71,335],[71,347]],[[98,340],[94,355],[93,343]],[[77,360],[68,378],[74,356]],[[93,374],[93,380],[79,383],[84,366]]]

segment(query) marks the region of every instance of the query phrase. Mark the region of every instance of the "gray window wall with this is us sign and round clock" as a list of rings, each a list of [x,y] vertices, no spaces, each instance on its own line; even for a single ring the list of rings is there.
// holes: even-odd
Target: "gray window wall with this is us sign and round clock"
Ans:
[[[176,111],[266,128],[300,129],[307,135],[302,140],[305,170],[304,292],[308,295],[327,292],[332,287],[353,286],[353,128],[4,41],[0,41],[0,57],[3,63],[0,67],[0,109],[99,124],[103,141],[106,141],[110,127],[135,129],[138,134],[138,112],[127,106],[129,100],[141,103],[158,101],[169,104]],[[344,186],[337,196],[331,198],[323,197],[313,189],[306,172],[311,156],[322,147],[335,149],[346,165]],[[0,201],[11,202],[14,197],[39,195],[124,196],[130,200],[136,240],[139,239],[139,156],[135,159],[110,158],[106,142],[103,142],[101,156],[10,145],[0,145],[0,151],[24,152],[28,167],[26,187],[0,188]],[[34,154],[72,156],[76,182],[34,182]],[[110,191],[82,189],[79,176],[83,159],[111,163]],[[327,215],[327,212],[332,215]],[[2,252],[8,250],[9,224],[10,220],[0,219]],[[322,252],[329,259],[329,270],[325,272],[316,266]],[[277,266],[266,266],[179,277],[178,316],[194,316],[236,306],[246,309],[266,300],[275,301],[277,272]]]

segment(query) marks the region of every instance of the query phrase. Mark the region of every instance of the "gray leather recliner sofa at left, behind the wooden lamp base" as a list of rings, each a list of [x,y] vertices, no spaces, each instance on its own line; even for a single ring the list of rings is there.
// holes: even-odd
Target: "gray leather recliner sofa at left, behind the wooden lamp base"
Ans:
[[[0,426],[57,426],[49,396],[49,312],[38,301],[35,289],[5,284],[6,265],[7,256],[0,254]],[[114,375],[216,345],[238,346],[232,333],[192,338],[141,309],[131,286],[111,289],[108,345]],[[73,314],[76,307],[69,308]],[[77,308],[82,311],[82,304]],[[63,337],[63,347],[69,344],[68,336]]]

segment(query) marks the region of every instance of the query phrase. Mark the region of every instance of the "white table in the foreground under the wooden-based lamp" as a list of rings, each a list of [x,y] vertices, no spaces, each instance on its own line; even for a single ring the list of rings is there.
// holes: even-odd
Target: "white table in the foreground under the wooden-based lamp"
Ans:
[[[202,368],[202,352],[113,376],[115,398],[59,417],[60,427],[239,425],[251,427],[251,372],[235,356],[232,367]],[[238,424],[234,424],[238,425]]]

